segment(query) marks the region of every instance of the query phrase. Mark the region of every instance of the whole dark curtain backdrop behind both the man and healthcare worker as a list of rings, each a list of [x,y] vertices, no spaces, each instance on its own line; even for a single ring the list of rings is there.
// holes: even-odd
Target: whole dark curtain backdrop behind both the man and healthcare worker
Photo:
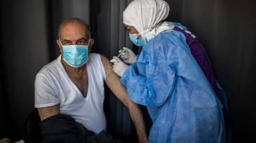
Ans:
[[[233,142],[254,142],[256,82],[256,2],[254,0],[166,0],[167,21],[196,34],[227,92]],[[60,55],[56,39],[64,19],[78,17],[91,27],[93,52],[111,59],[122,46],[140,51],[129,40],[122,11],[131,0],[2,0],[0,48],[0,139],[23,139],[24,121],[34,109],[37,72]],[[126,107],[106,88],[107,130],[131,141],[136,132]],[[142,107],[147,131],[152,125]]]

